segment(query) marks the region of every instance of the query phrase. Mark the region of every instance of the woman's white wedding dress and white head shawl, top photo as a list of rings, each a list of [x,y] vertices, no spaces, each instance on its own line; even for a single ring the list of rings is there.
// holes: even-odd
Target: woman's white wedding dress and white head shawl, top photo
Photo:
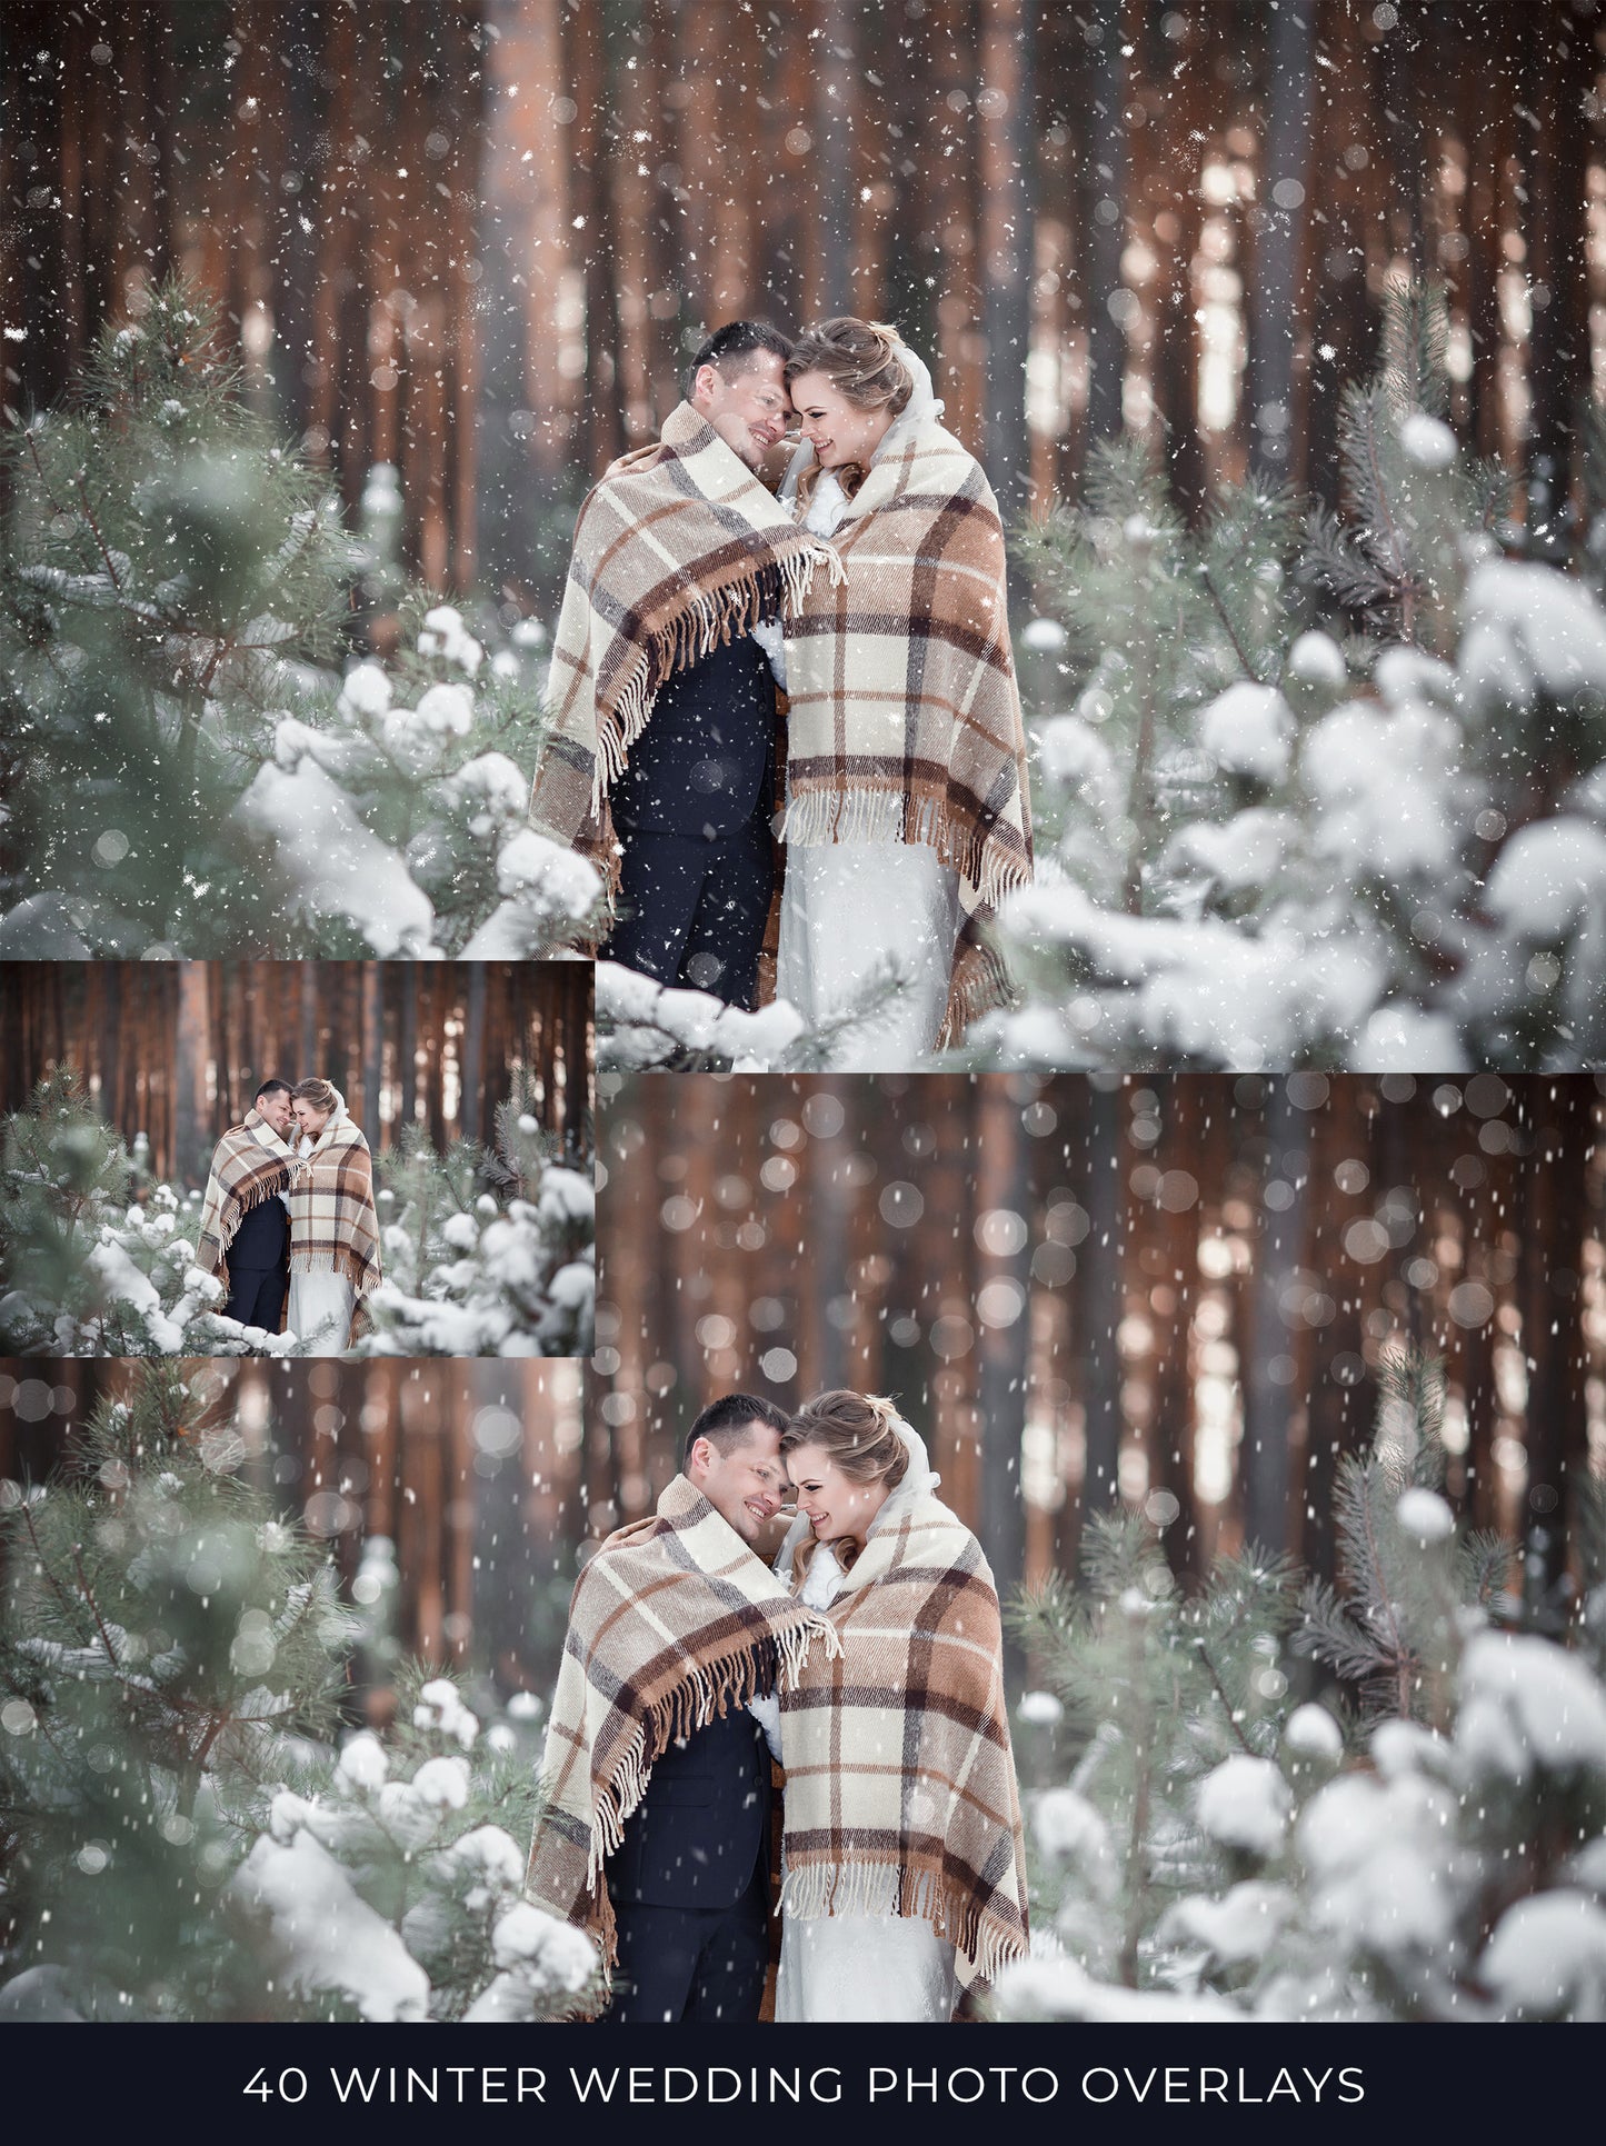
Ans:
[[[910,431],[943,414],[923,361],[908,350],[900,356],[915,378],[915,393],[887,429],[876,459],[889,449],[897,453]],[[788,472],[792,489],[797,474],[794,461]],[[816,536],[835,536],[848,504],[842,485],[824,470],[803,526]],[[790,1000],[809,1028],[818,1028],[872,996],[889,968],[904,985],[842,1034],[831,1052],[831,1071],[906,1073],[936,1049],[958,936],[960,876],[928,843],[786,843],[775,996]]]

